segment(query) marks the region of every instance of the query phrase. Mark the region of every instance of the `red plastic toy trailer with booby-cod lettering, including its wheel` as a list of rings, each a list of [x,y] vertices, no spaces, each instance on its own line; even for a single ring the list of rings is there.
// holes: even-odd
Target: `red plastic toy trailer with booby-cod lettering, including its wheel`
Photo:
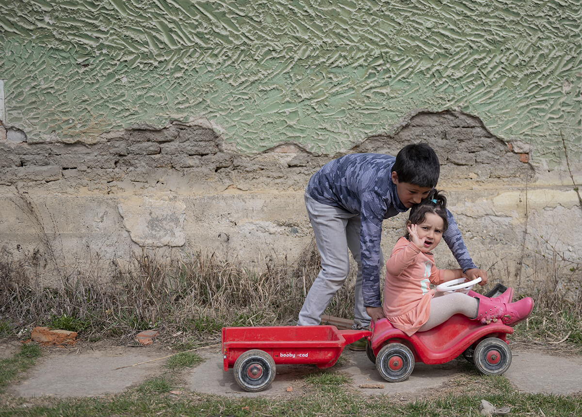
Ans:
[[[330,367],[346,345],[371,334],[335,326],[223,327],[224,370],[232,367],[243,390],[262,391],[275,379],[276,364]]]

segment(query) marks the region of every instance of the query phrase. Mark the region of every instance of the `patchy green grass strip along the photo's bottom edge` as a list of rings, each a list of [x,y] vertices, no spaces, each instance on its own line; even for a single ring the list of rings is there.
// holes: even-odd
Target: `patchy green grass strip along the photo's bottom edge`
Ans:
[[[503,377],[466,376],[427,393],[423,400],[406,401],[399,395],[370,397],[350,389],[328,391],[317,387],[341,384],[345,379],[329,372],[310,377],[314,384],[302,395],[231,398],[184,392],[168,394],[172,381],[158,377],[136,390],[99,398],[8,398],[0,397],[0,409],[13,416],[60,415],[213,415],[213,416],[478,416],[481,400],[496,407],[510,407],[512,416],[562,417],[582,414],[582,395],[526,394],[514,390]],[[24,408],[23,405],[27,404]]]

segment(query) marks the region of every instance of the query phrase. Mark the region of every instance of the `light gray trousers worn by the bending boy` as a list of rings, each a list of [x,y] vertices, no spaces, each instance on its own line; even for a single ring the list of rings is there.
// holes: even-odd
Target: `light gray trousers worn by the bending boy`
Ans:
[[[354,294],[354,328],[370,326],[370,316],[365,312],[362,295],[360,214],[321,204],[307,193],[305,206],[321,256],[321,271],[307,293],[297,324],[299,326],[320,324],[321,314],[336,292],[342,288],[350,271],[349,249],[358,265]],[[380,264],[383,263],[380,252]]]

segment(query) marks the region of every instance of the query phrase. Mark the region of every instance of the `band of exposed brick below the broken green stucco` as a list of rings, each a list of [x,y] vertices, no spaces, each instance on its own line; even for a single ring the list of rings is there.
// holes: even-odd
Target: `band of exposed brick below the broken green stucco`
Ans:
[[[54,182],[52,189],[70,193],[79,188],[107,193],[136,188],[194,193],[227,188],[297,190],[325,162],[339,156],[311,154],[294,144],[245,156],[227,149],[210,127],[183,123],[107,133],[93,144],[28,144],[26,136],[18,137],[23,141],[0,142],[0,184]],[[395,135],[368,137],[349,152],[395,155],[411,142],[434,147],[442,179],[449,183],[521,182],[531,172],[524,165],[529,161],[527,146],[508,146],[478,118],[450,111],[413,115]]]

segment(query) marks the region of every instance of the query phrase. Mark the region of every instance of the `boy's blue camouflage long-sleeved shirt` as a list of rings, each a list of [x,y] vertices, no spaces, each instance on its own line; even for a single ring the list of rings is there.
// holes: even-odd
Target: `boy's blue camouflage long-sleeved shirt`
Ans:
[[[328,162],[315,172],[306,192],[328,206],[360,213],[360,248],[364,306],[381,306],[379,254],[382,221],[408,210],[400,202],[392,182],[392,165],[396,158],[385,154],[349,154]],[[449,228],[443,239],[460,267],[476,268],[450,211]]]

